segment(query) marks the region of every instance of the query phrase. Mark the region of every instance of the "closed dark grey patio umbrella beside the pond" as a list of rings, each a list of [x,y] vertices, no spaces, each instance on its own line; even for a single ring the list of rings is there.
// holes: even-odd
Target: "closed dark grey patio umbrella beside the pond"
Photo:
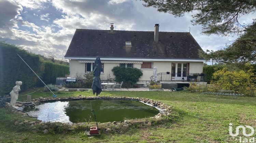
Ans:
[[[94,61],[94,71],[93,71],[93,85],[91,85],[91,89],[93,90],[93,94],[96,93],[98,96],[101,93],[101,81],[100,81],[100,72],[101,72],[101,61],[100,57],[97,56]]]

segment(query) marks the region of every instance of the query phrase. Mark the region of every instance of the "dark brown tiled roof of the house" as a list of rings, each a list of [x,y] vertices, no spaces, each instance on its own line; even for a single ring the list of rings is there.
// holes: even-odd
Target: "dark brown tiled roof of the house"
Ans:
[[[159,32],[155,43],[154,31],[76,29],[65,57],[201,59],[199,49],[188,32]]]

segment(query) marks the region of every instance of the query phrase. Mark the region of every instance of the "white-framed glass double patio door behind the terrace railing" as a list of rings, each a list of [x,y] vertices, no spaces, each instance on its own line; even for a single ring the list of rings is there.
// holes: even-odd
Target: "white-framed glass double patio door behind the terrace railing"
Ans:
[[[172,80],[187,80],[187,63],[172,63]]]

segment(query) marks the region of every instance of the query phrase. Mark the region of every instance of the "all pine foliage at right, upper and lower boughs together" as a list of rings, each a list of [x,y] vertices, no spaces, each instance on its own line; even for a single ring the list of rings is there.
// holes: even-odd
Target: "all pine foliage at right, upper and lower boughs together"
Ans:
[[[193,25],[202,25],[203,33],[240,37],[230,46],[218,51],[201,51],[206,60],[226,64],[243,65],[256,62],[256,21],[239,23],[242,15],[256,11],[256,0],[142,0],[144,6],[155,7],[159,12],[183,16],[196,11],[191,20]]]

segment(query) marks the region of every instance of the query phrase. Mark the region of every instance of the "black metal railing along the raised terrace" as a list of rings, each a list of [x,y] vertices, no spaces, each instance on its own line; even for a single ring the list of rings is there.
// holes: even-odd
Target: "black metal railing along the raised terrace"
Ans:
[[[158,73],[157,74],[157,80],[158,81],[206,81],[204,73],[198,74],[198,73],[189,73],[189,74],[182,74],[182,73]],[[151,81],[154,81],[154,76],[150,77]]]

